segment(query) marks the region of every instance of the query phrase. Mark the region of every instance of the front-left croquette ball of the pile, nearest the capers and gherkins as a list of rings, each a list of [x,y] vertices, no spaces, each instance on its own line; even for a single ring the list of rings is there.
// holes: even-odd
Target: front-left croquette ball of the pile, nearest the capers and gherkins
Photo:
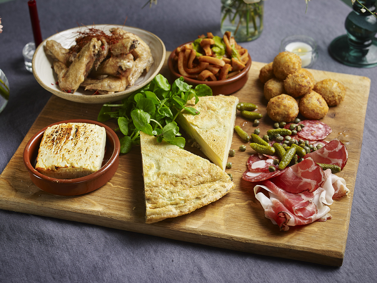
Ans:
[[[267,114],[276,122],[292,122],[299,114],[296,99],[287,94],[280,94],[267,103]]]

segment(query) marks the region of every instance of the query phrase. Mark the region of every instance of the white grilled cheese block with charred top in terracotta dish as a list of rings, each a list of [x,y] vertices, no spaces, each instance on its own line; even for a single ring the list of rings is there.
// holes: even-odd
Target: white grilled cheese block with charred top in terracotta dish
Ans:
[[[89,123],[63,123],[44,131],[35,169],[43,175],[72,179],[89,175],[102,166],[105,128]]]

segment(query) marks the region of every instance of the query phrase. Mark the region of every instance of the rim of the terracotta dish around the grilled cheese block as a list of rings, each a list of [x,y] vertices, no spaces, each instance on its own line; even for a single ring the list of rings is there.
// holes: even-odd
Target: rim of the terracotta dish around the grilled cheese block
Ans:
[[[89,124],[95,124],[95,125],[104,127],[106,129],[106,138],[112,139],[113,144],[114,144],[114,149],[113,149],[113,153],[112,153],[110,159],[97,172],[94,172],[92,174],[89,174],[89,175],[86,175],[86,176],[80,177],[80,178],[57,179],[57,178],[51,178],[51,177],[45,176],[45,175],[41,174],[40,172],[38,172],[37,170],[35,170],[34,166],[31,163],[32,162],[31,158],[33,157],[35,152],[31,152],[31,146],[34,145],[34,143],[39,138],[41,138],[41,136],[43,136],[44,131],[46,131],[46,129],[48,127],[51,127],[51,126],[57,125],[57,124],[62,124],[62,123],[89,123]],[[39,149],[39,145],[37,146],[37,148]],[[120,153],[120,141],[119,141],[118,136],[115,134],[115,132],[111,128],[109,128],[108,126],[106,126],[106,125],[104,125],[100,122],[96,122],[96,121],[92,121],[92,120],[74,119],[74,120],[65,120],[65,121],[60,121],[60,122],[57,122],[57,123],[52,123],[51,125],[43,128],[39,132],[37,132],[28,141],[28,143],[25,146],[25,149],[24,149],[24,152],[23,152],[23,162],[24,162],[26,169],[28,169],[29,173],[34,175],[34,177],[36,177],[36,178],[42,179],[44,181],[53,182],[53,183],[67,184],[67,185],[70,184],[71,185],[71,184],[85,183],[85,182],[94,180],[97,177],[100,177],[101,175],[103,175],[104,173],[109,171],[110,167],[116,161],[116,158],[118,157],[119,153]]]

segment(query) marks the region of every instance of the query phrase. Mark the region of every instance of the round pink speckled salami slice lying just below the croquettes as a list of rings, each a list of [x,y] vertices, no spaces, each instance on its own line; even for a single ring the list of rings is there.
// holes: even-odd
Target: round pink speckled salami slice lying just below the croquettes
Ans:
[[[306,140],[323,140],[332,132],[327,124],[319,120],[303,120],[299,124],[305,127],[302,128],[302,131],[297,132],[297,135]],[[290,125],[287,124],[284,128],[289,129]]]

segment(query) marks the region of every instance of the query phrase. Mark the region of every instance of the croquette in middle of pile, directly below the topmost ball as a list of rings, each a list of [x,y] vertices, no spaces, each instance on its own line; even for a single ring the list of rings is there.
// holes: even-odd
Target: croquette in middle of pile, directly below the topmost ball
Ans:
[[[299,97],[311,91],[314,88],[314,82],[304,69],[299,69],[284,80],[284,88],[287,94]]]

